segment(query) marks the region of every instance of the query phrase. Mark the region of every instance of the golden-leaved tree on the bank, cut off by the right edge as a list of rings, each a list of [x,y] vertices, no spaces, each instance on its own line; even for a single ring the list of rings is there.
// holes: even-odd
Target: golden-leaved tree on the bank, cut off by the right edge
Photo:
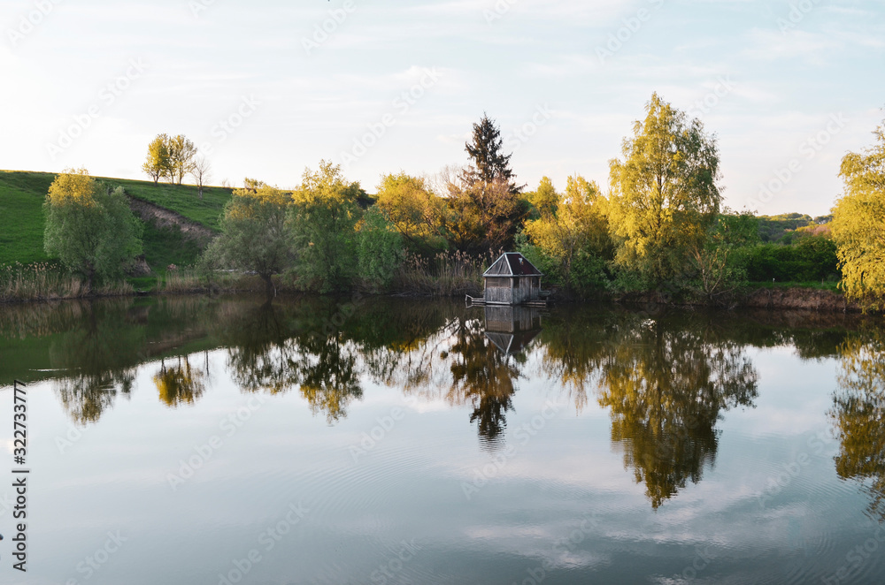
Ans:
[[[885,122],[877,143],[842,159],[845,194],[833,209],[832,230],[845,294],[864,308],[880,309],[885,294]]]

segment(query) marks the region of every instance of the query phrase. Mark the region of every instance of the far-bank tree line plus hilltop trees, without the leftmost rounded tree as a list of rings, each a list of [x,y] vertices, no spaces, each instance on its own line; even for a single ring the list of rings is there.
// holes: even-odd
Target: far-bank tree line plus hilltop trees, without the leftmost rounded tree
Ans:
[[[719,300],[748,282],[841,278],[852,300],[880,308],[882,126],[875,135],[873,147],[844,157],[845,193],[832,217],[781,220],[723,208],[715,135],[657,94],[610,162],[605,190],[575,175],[562,191],[546,177],[527,191],[500,129],[484,115],[465,145],[466,166],[425,177],[387,174],[374,196],[326,161],[305,170],[292,191],[247,179],[227,202],[202,265],[254,272],[269,292],[277,275],[319,292],[358,284],[382,290],[410,255],[518,249],[548,283],[577,296],[656,292]],[[202,186],[204,165],[187,138],[160,134],[143,168],[155,183],[181,184],[191,174]],[[773,224],[793,220],[789,237],[781,230],[781,242],[770,241]]]

